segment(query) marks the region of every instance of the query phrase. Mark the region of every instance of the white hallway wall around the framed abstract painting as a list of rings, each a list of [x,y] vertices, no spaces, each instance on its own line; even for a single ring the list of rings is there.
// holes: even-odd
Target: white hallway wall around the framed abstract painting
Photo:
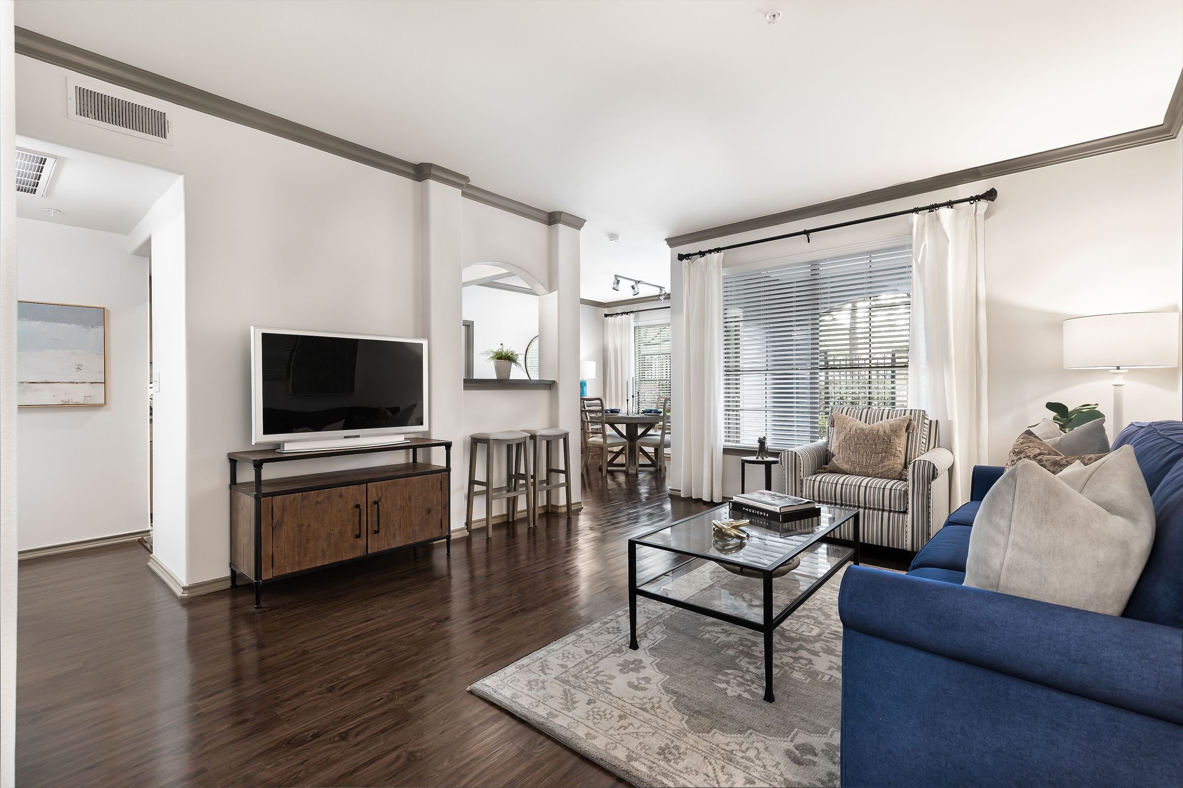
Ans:
[[[25,301],[106,307],[106,404],[21,408],[20,549],[148,528],[148,260],[127,236],[17,221]]]

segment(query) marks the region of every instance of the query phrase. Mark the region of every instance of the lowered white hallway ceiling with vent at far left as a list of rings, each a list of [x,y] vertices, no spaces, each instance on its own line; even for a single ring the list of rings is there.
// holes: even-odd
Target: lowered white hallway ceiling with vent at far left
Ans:
[[[17,146],[58,159],[44,197],[17,194],[22,219],[127,235],[177,178],[155,167],[30,137],[17,137]],[[50,216],[46,208],[62,213]]]

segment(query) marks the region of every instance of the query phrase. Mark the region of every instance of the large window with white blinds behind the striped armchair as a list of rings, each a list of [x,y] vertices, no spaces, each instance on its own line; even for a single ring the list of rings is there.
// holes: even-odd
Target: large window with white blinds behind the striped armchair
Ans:
[[[795,447],[838,405],[903,408],[912,248],[723,278],[723,439]]]

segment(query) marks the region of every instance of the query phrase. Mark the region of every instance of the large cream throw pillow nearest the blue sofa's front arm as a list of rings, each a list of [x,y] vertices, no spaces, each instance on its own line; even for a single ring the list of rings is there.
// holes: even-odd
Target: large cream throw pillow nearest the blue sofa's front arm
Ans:
[[[1059,475],[1020,460],[974,520],[965,585],[1120,616],[1153,541],[1132,448]]]

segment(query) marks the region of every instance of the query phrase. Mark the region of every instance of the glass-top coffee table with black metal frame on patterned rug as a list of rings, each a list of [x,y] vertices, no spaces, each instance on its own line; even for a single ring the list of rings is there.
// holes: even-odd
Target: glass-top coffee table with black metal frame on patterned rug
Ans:
[[[771,703],[772,632],[846,564],[859,562],[859,513],[820,506],[813,515],[788,522],[751,519],[743,527],[749,534],[745,542],[728,545],[716,540],[712,521],[732,517],[749,519],[738,512],[732,515],[730,504],[724,504],[628,540],[628,647],[638,649],[638,597],[761,632],[764,699]],[[847,525],[854,535],[849,547],[828,541]],[[645,558],[653,559],[649,564],[659,564],[658,573],[645,580],[636,577],[639,548]],[[789,569],[795,560],[800,564]],[[707,564],[748,578],[751,588],[735,593],[719,584],[679,582]]]

